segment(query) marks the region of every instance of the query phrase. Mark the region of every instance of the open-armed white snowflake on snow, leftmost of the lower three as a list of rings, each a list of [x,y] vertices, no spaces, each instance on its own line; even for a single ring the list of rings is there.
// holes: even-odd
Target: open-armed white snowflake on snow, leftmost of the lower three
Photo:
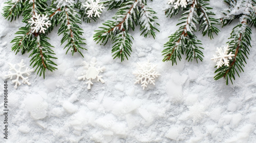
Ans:
[[[17,78],[12,81],[13,83],[15,83],[15,86],[14,86],[15,89],[17,88],[18,84],[21,85],[21,83],[19,82],[19,77],[22,78],[23,84],[30,85],[30,82],[28,82],[29,81],[28,77],[24,77],[23,74],[26,74],[29,76],[31,74],[31,72],[34,71],[34,69],[29,69],[28,67],[26,67],[26,65],[23,63],[23,61],[24,60],[22,59],[21,62],[17,64],[19,67],[18,70],[15,68],[16,64],[13,65],[12,63],[8,63],[8,65],[10,65],[10,69],[8,71],[8,74],[4,76],[4,77],[8,77],[10,79],[13,79],[13,76],[17,76]],[[22,68],[24,68],[24,67],[26,67],[26,70],[22,71]],[[12,73],[12,70],[14,71],[14,73]]]

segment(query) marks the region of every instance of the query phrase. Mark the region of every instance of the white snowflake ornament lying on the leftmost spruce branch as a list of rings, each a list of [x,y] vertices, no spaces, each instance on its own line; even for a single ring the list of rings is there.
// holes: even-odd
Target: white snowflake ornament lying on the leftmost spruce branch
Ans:
[[[42,17],[40,17],[40,14],[37,15],[37,13],[35,13],[35,15],[33,15],[33,17],[31,17],[32,21],[28,21],[28,23],[31,23],[30,26],[35,26],[35,27],[31,27],[31,29],[33,30],[32,32],[34,33],[36,31],[36,33],[39,31],[40,33],[43,32],[45,33],[46,28],[49,28],[49,26],[51,25],[50,20],[46,21],[48,19],[47,17],[48,15],[44,16],[44,14],[42,15]],[[35,18],[35,20],[34,20]],[[46,28],[44,28],[44,26],[46,26]]]

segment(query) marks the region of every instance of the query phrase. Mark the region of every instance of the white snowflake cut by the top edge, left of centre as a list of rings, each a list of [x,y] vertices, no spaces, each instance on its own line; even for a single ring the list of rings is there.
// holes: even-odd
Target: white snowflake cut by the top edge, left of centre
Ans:
[[[94,17],[96,17],[96,15],[100,17],[100,14],[102,13],[102,9],[105,9],[105,7],[102,6],[103,3],[99,4],[100,0],[96,0],[96,2],[94,2],[94,0],[90,0],[90,1],[91,1],[90,4],[86,2],[86,5],[83,5],[83,7],[86,7],[85,10],[87,10],[88,8],[90,9],[86,13],[88,15],[87,17],[92,17],[93,14],[94,14]]]

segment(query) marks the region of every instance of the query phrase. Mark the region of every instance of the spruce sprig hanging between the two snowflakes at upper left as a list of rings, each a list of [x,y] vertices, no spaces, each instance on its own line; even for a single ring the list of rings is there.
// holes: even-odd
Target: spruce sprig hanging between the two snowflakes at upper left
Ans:
[[[60,24],[58,34],[63,34],[61,45],[67,41],[64,47],[64,49],[68,48],[66,54],[71,50],[72,56],[74,52],[79,52],[83,56],[80,50],[87,49],[82,47],[81,44],[86,44],[82,42],[82,40],[86,39],[80,37],[83,29],[78,26],[78,24],[81,24],[81,19],[74,9],[76,8],[76,4],[73,0],[56,0],[52,1],[51,7],[49,17],[52,23],[56,23],[56,25]]]

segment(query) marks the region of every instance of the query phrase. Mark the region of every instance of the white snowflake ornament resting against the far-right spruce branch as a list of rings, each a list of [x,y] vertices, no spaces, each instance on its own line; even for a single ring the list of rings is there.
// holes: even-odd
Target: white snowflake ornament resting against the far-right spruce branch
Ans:
[[[224,51],[222,52],[222,50]],[[222,67],[223,64],[224,66],[229,66],[229,60],[232,59],[233,56],[235,56],[235,54],[232,54],[232,52],[228,54],[229,50],[229,45],[227,45],[226,47],[224,46],[223,49],[221,47],[217,47],[216,53],[218,53],[218,55],[213,55],[214,57],[211,58],[211,60],[214,60],[213,62],[218,61],[216,64],[217,68]]]

